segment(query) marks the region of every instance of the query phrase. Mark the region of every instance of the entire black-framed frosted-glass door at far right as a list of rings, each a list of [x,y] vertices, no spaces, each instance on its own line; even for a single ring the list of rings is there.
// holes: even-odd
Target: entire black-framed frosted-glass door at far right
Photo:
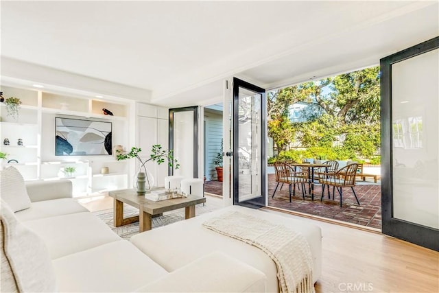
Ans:
[[[383,233],[439,250],[439,38],[381,59]]]

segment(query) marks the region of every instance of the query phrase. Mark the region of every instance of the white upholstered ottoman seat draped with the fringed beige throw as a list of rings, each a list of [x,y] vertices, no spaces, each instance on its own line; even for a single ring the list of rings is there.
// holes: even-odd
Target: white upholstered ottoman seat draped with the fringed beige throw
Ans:
[[[268,292],[278,291],[276,265],[261,249],[202,226],[202,223],[207,219],[228,211],[240,211],[257,218],[283,224],[302,233],[311,248],[313,281],[320,277],[322,257],[322,231],[320,227],[302,220],[239,206],[226,207],[189,220],[139,233],[131,237],[130,241],[169,272],[215,250],[221,251],[263,272],[267,276]]]

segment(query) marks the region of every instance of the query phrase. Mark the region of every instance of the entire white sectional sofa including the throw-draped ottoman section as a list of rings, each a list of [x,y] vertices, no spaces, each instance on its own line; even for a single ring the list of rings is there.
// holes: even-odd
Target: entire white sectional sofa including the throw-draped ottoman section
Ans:
[[[259,248],[202,228],[204,220],[229,209],[302,232],[313,281],[320,277],[321,231],[307,222],[229,207],[128,242],[71,198],[69,180],[25,189],[23,178],[5,184],[11,179],[3,172],[0,292],[277,292],[276,266]],[[23,193],[29,202],[18,204],[14,199]]]

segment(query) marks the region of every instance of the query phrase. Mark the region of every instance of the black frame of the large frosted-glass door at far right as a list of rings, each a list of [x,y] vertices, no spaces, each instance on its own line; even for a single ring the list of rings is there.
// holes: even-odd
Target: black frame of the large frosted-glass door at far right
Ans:
[[[439,37],[380,60],[381,66],[381,231],[426,248],[439,251],[439,230],[394,218],[392,154],[392,65],[439,48]]]

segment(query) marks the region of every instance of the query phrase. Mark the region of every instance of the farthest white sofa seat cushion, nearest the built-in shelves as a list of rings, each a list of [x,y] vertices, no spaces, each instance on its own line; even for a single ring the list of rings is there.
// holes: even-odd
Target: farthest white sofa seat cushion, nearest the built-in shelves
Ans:
[[[73,198],[60,198],[57,200],[32,202],[29,209],[18,211],[15,215],[21,221],[29,221],[54,217],[56,215],[67,215],[69,213],[82,213],[84,211],[88,211],[88,209],[82,207]]]

